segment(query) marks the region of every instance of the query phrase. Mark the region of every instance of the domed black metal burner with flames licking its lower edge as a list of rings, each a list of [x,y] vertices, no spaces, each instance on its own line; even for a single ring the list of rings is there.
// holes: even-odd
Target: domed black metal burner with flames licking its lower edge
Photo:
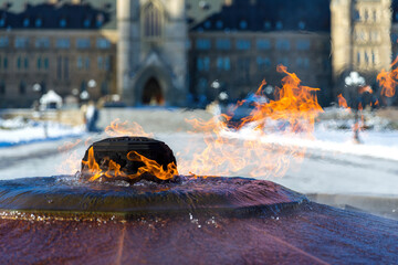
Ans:
[[[132,161],[127,158],[127,155],[132,151],[155,160],[159,163],[164,170],[167,170],[167,166],[171,162],[177,167],[176,158],[172,153],[172,150],[163,141],[155,140],[147,137],[116,137],[107,138],[101,141],[96,141],[88,147],[86,150],[83,160],[88,160],[88,150],[93,147],[95,161],[100,165],[100,168],[106,172],[108,170],[109,160],[113,160],[121,166],[121,171],[126,174],[135,174],[140,167],[145,165],[139,161]],[[91,177],[88,167],[82,162],[82,177],[88,179]],[[106,178],[102,177],[102,180],[126,180],[128,182],[137,182],[142,179],[159,182],[161,180],[157,179],[155,176],[144,174],[140,178]]]

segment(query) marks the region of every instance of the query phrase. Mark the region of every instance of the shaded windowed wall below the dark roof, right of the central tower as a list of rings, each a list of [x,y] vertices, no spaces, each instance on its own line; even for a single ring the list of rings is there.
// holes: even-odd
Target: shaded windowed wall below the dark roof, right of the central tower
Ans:
[[[263,80],[281,86],[279,64],[296,73],[303,85],[322,88],[318,96],[325,105],[332,99],[328,33],[191,32],[189,39],[190,87],[208,100],[216,99],[220,91],[232,100],[241,99]],[[221,84],[219,89],[211,86],[213,81]]]

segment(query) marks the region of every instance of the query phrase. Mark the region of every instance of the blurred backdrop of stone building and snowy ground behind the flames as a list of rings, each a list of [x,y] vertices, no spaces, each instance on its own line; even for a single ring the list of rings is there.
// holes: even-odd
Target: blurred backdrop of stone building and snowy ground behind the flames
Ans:
[[[187,118],[239,125],[274,99],[283,64],[320,88],[324,113],[312,139],[268,139],[307,155],[259,178],[397,218],[398,100],[377,81],[397,39],[397,0],[0,0],[0,179],[59,173],[85,150],[60,146],[100,139],[116,118],[176,152],[200,146]]]

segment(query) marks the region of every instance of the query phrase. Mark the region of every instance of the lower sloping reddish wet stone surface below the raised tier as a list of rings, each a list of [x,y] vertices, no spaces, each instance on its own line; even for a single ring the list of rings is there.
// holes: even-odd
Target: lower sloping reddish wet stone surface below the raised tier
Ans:
[[[398,222],[316,203],[241,218],[0,220],[2,264],[392,264]]]

